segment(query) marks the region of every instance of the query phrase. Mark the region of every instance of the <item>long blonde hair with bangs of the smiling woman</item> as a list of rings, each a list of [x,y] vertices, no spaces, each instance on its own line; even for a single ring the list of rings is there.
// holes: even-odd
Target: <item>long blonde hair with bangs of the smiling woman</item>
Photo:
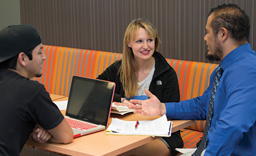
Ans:
[[[138,79],[136,77],[136,71],[138,71],[138,64],[136,63],[132,48],[127,46],[127,43],[134,41],[136,32],[139,28],[144,28],[147,35],[155,40],[155,51],[159,49],[160,38],[156,31],[156,28],[148,22],[146,19],[135,19],[126,28],[124,34],[123,45],[123,58],[122,65],[119,69],[120,81],[123,83],[124,93],[127,98],[132,97],[138,90]]]

